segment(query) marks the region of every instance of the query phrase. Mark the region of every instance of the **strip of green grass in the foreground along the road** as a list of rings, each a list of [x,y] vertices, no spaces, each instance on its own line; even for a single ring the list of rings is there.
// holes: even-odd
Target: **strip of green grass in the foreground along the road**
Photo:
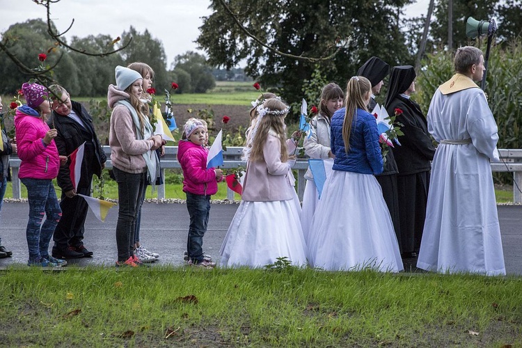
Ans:
[[[522,347],[520,286],[521,278],[515,277],[291,267],[13,267],[0,273],[0,342],[24,347],[86,342],[92,347]]]

